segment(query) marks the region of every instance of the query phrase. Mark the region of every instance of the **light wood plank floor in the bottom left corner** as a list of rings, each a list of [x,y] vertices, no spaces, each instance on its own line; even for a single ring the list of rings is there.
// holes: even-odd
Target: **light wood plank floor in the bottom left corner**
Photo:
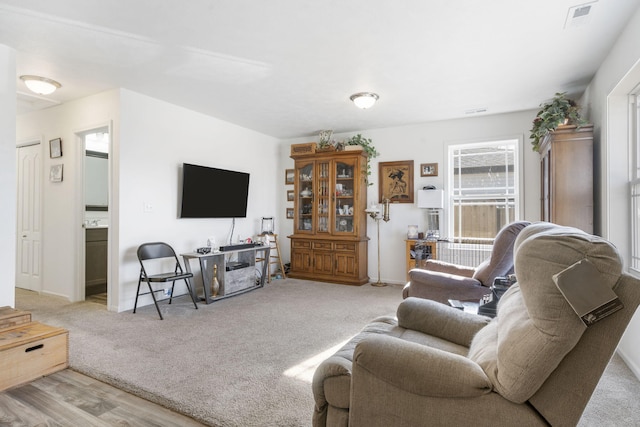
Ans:
[[[0,393],[0,426],[202,425],[71,369]]]

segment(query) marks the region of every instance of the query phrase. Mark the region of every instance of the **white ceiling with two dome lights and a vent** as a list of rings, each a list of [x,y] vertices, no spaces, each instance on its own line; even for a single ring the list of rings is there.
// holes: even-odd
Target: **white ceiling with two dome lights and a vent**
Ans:
[[[569,8],[590,3],[565,29]],[[18,112],[118,87],[279,138],[582,94],[640,0],[0,0]],[[19,80],[59,81],[36,98]],[[380,95],[369,110],[355,92]]]

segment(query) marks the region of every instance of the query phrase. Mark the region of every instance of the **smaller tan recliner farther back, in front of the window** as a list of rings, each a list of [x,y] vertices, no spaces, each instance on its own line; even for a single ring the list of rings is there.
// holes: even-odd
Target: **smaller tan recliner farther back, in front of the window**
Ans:
[[[513,273],[513,246],[520,232],[530,224],[516,221],[504,226],[493,241],[491,255],[477,267],[427,260],[424,268],[409,272],[402,296],[426,298],[442,303],[449,299],[480,300],[491,293],[496,277]]]

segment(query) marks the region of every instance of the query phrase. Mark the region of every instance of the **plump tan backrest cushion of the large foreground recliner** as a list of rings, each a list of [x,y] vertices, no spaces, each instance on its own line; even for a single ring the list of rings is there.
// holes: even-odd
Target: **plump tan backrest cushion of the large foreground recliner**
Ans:
[[[586,329],[552,276],[586,258],[612,288],[622,269],[615,247],[600,237],[548,223],[523,233],[515,249],[518,283],[502,296],[497,317],[476,334],[469,350],[494,389],[515,403],[540,388]]]

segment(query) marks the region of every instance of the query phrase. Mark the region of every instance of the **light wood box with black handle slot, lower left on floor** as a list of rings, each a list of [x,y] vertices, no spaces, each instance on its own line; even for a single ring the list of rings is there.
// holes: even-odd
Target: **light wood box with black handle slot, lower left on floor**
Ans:
[[[0,330],[0,391],[69,366],[69,332],[30,322]]]

